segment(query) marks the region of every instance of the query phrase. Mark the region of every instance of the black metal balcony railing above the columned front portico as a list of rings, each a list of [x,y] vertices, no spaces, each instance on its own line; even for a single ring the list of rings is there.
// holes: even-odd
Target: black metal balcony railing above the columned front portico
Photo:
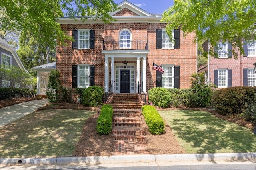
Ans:
[[[104,41],[103,40],[103,50],[148,50],[148,40],[147,41]]]

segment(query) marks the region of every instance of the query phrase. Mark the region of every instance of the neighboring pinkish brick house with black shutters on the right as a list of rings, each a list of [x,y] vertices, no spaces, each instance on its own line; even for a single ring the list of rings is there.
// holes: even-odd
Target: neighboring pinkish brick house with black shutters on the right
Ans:
[[[218,57],[210,56],[210,61],[205,66],[198,68],[198,72],[205,71],[208,81],[214,83],[218,88],[234,86],[255,86],[255,70],[253,64],[256,62],[256,45],[243,42],[245,55],[238,53],[238,58],[232,56],[232,47],[229,43],[219,42],[215,52]],[[206,41],[202,47],[205,51],[209,49]]]

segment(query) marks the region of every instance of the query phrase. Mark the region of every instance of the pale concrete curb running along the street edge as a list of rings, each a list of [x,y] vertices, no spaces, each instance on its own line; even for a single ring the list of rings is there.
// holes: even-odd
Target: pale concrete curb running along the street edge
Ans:
[[[114,164],[136,162],[213,162],[218,160],[256,160],[256,153],[217,153],[217,154],[170,154],[170,155],[125,155],[125,156],[90,156],[61,158],[14,158],[0,159],[0,166],[14,165],[69,165],[69,164]]]

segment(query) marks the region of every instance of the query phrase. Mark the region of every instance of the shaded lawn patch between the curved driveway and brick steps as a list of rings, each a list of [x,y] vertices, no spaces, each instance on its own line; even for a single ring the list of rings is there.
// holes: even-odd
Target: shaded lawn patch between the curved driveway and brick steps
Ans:
[[[84,121],[94,113],[42,110],[0,127],[0,158],[72,156]]]

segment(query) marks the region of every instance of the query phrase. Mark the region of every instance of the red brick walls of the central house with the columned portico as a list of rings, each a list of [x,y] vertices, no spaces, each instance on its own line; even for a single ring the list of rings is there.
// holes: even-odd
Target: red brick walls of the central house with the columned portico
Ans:
[[[113,16],[138,16],[133,11],[124,8]],[[95,85],[104,87],[105,84],[105,58],[102,53],[104,41],[118,41],[121,29],[128,29],[132,34],[132,40],[148,41],[149,53],[146,57],[146,91],[156,87],[156,70],[152,70],[153,62],[162,64],[173,64],[180,66],[180,88],[189,88],[191,74],[196,72],[197,49],[194,43],[195,34],[191,33],[183,37],[180,31],[179,49],[156,49],[156,29],[164,29],[164,23],[148,23],[139,21],[118,21],[114,23],[60,23],[64,31],[72,36],[72,30],[90,29],[95,30],[95,49],[72,49],[72,41],[68,46],[57,46],[56,69],[60,70],[61,81],[65,87],[72,87],[72,65],[90,64],[95,65]],[[124,56],[125,58],[125,56]],[[127,60],[127,58],[125,58]],[[110,71],[111,59],[108,60]],[[116,63],[122,63],[115,59]],[[135,63],[136,58],[130,58],[129,63]],[[142,61],[140,61],[142,64]],[[142,68],[140,68],[141,70]],[[136,73],[137,74],[137,73]],[[110,76],[110,72],[109,72]],[[110,80],[110,77],[108,77]],[[140,80],[142,82],[142,80]],[[110,81],[109,81],[110,84]]]

